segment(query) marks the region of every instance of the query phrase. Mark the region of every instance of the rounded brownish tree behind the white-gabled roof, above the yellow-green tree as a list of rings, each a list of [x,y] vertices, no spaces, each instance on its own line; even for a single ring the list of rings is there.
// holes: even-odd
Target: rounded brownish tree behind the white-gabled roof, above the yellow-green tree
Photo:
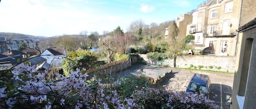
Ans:
[[[59,47],[63,47],[65,50],[70,52],[74,52],[79,48],[78,38],[70,35],[63,35],[57,38],[56,45]]]

